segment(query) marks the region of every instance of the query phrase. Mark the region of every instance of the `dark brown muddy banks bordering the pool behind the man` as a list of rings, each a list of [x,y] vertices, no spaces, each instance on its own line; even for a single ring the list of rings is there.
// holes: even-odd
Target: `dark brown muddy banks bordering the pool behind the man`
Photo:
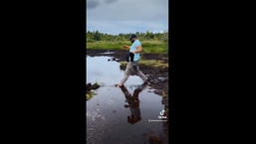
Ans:
[[[126,61],[127,52],[126,51],[110,51],[110,54],[105,54],[106,50],[87,50],[87,55],[94,56],[110,56],[114,57],[120,61]],[[112,53],[113,52],[113,53]],[[140,54],[145,60],[163,60],[167,63],[168,55],[159,54]],[[126,70],[126,68],[122,68]],[[168,69],[157,68],[152,69],[149,66],[139,65],[139,70],[149,77],[149,86],[156,89],[154,92],[161,95],[162,92],[168,94]]]

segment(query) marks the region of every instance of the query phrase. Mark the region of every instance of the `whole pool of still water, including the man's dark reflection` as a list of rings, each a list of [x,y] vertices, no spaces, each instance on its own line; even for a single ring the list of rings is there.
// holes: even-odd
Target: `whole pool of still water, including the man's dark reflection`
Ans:
[[[108,61],[111,59],[87,57],[87,83],[101,85],[87,100],[87,143],[147,144],[150,136],[160,138],[166,120],[159,118],[164,109],[161,96],[138,76],[129,76],[124,88],[115,87],[124,71],[120,63]],[[135,95],[138,98],[133,98]],[[138,120],[132,120],[131,115]]]

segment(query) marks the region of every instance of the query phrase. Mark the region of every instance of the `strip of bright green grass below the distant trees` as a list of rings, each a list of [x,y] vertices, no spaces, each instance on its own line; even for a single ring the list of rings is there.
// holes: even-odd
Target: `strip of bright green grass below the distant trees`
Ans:
[[[142,45],[142,53],[145,54],[167,54],[168,43],[162,41],[140,41]],[[131,45],[128,41],[107,42],[98,41],[94,43],[87,43],[87,50],[122,50],[123,45]]]

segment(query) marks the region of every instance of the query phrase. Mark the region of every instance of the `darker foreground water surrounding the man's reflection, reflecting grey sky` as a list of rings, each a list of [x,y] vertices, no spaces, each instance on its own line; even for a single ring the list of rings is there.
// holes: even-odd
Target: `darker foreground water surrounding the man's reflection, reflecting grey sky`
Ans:
[[[127,88],[132,94],[134,88]],[[162,122],[148,122],[148,119],[157,120],[164,105],[161,104],[161,96],[148,90],[145,88],[138,95],[141,120],[131,125],[128,123],[130,110],[124,107],[127,102],[121,88],[100,87],[97,95],[87,101],[88,143],[142,143],[148,138],[143,135],[149,131],[159,134],[162,131]]]

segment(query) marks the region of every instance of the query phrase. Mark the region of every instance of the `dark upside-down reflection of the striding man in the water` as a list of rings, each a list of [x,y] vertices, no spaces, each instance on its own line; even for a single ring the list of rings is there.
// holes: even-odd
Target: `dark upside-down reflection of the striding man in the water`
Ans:
[[[132,95],[128,92],[128,89],[125,85],[120,86],[127,98],[126,101],[128,104],[126,104],[125,107],[129,108],[130,110],[130,115],[128,116],[128,123],[130,124],[134,124],[141,120],[138,93],[141,92],[147,86],[147,84],[147,82],[143,82],[142,84],[138,85],[138,87],[134,89]]]

